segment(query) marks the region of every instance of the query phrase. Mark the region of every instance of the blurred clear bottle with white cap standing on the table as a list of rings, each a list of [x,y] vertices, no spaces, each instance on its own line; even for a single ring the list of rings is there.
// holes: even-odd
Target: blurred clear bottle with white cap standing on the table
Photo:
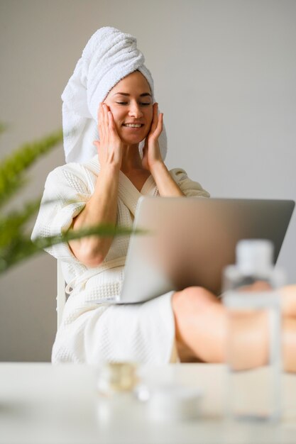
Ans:
[[[280,287],[284,282],[283,271],[273,265],[270,241],[239,241],[236,265],[226,267],[223,275],[229,418],[280,418]]]

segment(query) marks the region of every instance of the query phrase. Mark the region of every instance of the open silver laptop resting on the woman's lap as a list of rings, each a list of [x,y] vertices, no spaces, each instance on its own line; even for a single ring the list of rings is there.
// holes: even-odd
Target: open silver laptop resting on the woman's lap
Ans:
[[[222,271],[236,243],[273,242],[276,262],[295,202],[262,199],[148,197],[138,201],[121,296],[113,303],[153,299],[192,285],[221,294]]]

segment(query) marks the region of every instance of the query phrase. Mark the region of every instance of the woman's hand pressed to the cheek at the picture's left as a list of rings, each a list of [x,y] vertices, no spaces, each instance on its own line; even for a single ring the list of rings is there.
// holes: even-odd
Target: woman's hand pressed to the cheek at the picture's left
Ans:
[[[102,170],[106,167],[121,168],[123,143],[116,131],[114,117],[104,103],[99,104],[98,110],[99,121],[99,139],[94,140],[99,154],[99,163]]]

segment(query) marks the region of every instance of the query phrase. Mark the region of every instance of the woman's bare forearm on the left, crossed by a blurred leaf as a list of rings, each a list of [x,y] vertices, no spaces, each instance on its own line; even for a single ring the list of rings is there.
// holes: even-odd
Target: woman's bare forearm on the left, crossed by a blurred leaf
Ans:
[[[73,220],[72,230],[77,231],[103,223],[115,226],[118,188],[119,169],[110,166],[101,170],[94,194],[81,213]],[[84,265],[97,267],[106,257],[112,240],[112,236],[93,235],[80,240],[70,240],[69,244],[74,255]]]

